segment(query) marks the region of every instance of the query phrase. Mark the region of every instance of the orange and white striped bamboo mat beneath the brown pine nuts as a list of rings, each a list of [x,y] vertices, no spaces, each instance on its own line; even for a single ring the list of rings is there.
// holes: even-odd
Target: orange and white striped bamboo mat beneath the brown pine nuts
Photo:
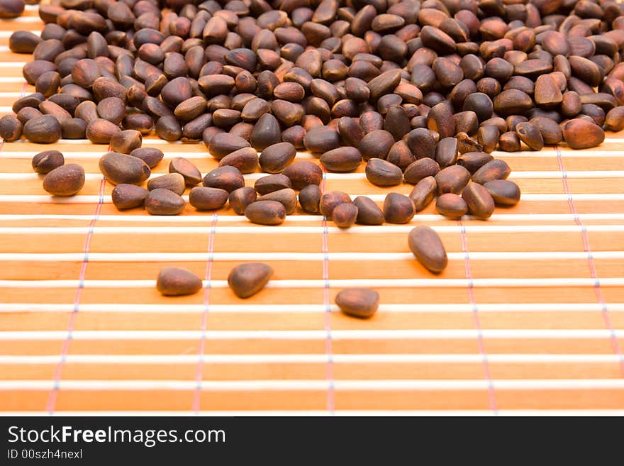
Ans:
[[[29,55],[9,31],[38,31],[27,7],[0,22],[0,113],[30,93]],[[154,136],[167,171],[203,144]],[[55,148],[84,166],[79,196],[52,199],[30,159]],[[489,221],[430,206],[410,225],[340,231],[299,213],[254,226],[231,209],[182,216],[118,212],[97,162],[104,145],[60,140],[0,147],[2,414],[624,414],[624,148],[495,152],[523,192]],[[300,158],[315,160],[309,154]],[[252,184],[260,174],[246,175]],[[326,174],[383,201],[363,170]],[[408,194],[411,186],[392,188]],[[413,260],[407,233],[441,235],[447,270]],[[269,287],[237,299],[241,262],[269,262]],[[161,267],[188,267],[204,292],[165,298]],[[381,294],[374,318],[340,314],[343,287]]]

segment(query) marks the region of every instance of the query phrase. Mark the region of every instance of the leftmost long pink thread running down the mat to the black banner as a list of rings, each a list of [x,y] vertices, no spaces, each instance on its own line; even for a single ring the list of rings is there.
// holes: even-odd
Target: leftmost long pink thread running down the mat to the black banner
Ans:
[[[74,303],[72,314],[69,316],[69,323],[67,324],[67,337],[65,341],[63,341],[63,345],[61,348],[61,360],[55,367],[54,375],[52,375],[52,389],[50,390],[50,394],[48,395],[48,403],[46,404],[45,410],[48,411],[50,416],[54,414],[56,408],[56,400],[58,396],[58,391],[60,388],[60,379],[62,377],[63,366],[65,365],[65,360],[67,360],[67,355],[69,354],[69,345],[72,342],[72,334],[74,333],[74,326],[76,324],[76,316],[78,315],[79,305],[80,305],[80,296],[82,296],[82,289],[84,288],[84,277],[87,273],[87,264],[89,263],[89,248],[91,246],[91,237],[93,236],[93,230],[96,221],[100,216],[100,212],[102,210],[102,205],[104,204],[104,187],[106,186],[106,179],[102,178],[99,187],[99,199],[98,203],[95,207],[95,211],[93,214],[93,218],[91,218],[91,223],[89,223],[89,229],[87,230],[87,236],[84,238],[84,246],[82,247],[82,252],[84,253],[84,257],[82,259],[82,264],[80,265],[80,274],[78,279],[78,288],[76,289],[76,293],[74,294]]]

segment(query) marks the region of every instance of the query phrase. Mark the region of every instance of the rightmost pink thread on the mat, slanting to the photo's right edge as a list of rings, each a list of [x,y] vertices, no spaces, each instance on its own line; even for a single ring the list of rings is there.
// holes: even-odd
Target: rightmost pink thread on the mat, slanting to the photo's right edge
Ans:
[[[618,356],[620,360],[620,372],[624,375],[624,355],[622,353],[622,348],[620,348],[620,343],[618,342],[618,338],[615,335],[615,330],[613,329],[613,324],[611,323],[611,317],[609,317],[609,310],[607,303],[602,294],[602,289],[600,287],[600,278],[598,278],[598,272],[596,270],[596,263],[594,262],[594,255],[591,253],[591,246],[589,245],[589,236],[587,235],[587,228],[584,223],[581,221],[579,217],[579,213],[576,211],[576,206],[574,205],[574,199],[572,197],[572,189],[570,189],[568,183],[567,171],[563,165],[563,157],[561,155],[561,150],[559,150],[559,146],[555,146],[555,150],[557,151],[557,164],[559,165],[559,171],[561,172],[561,178],[563,182],[563,189],[568,198],[568,206],[570,209],[570,213],[574,216],[574,223],[581,228],[581,239],[583,240],[583,249],[585,253],[587,253],[587,265],[589,267],[589,275],[591,279],[594,280],[594,294],[596,294],[596,300],[598,304],[601,306],[602,318],[605,324],[607,331],[609,332],[609,340],[611,340],[611,347],[613,348],[613,353]]]

